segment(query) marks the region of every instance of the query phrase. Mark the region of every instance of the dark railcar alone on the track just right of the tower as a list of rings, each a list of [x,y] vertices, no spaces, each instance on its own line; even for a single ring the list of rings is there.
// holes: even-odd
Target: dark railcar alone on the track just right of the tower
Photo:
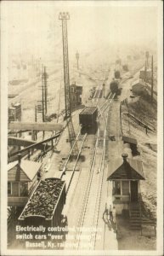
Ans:
[[[97,107],[85,107],[81,113],[79,113],[79,124],[82,125],[83,133],[94,133],[97,130]]]

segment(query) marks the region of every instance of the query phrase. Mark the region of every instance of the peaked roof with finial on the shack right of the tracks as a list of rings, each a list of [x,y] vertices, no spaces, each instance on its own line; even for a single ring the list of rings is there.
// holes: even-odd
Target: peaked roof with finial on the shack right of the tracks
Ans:
[[[109,164],[109,173],[107,180],[140,180],[145,179],[143,163],[139,160],[122,158],[113,160]]]

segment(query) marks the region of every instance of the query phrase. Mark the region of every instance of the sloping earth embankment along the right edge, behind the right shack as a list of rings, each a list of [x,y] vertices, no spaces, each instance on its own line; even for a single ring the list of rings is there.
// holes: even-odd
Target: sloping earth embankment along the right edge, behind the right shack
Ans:
[[[153,131],[146,130],[130,119],[124,120],[128,125],[129,133],[138,141],[140,159],[144,164],[145,181],[141,182],[142,209],[147,218],[156,218],[156,189],[157,189],[157,106],[148,99],[140,97],[136,102],[128,104],[129,113],[148,125]]]

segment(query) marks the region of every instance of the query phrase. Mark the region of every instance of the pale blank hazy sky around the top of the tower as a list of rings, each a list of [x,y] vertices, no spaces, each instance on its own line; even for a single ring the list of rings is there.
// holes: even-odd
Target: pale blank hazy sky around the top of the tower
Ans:
[[[85,55],[96,49],[109,49],[112,52],[112,49],[123,44],[127,47],[149,45],[150,42],[156,44],[157,8],[149,6],[149,1],[147,6],[141,7],[126,1],[117,2],[117,5],[110,1],[5,1],[2,4],[2,31],[8,54],[28,52],[42,57],[49,53],[59,55],[62,49],[60,11],[70,13],[70,55],[76,49]]]

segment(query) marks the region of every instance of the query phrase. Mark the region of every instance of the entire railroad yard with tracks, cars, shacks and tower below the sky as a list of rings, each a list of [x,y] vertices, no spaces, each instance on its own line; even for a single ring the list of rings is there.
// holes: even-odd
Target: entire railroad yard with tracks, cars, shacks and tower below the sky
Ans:
[[[8,81],[8,248],[156,250],[156,50],[69,61],[59,21],[56,66]]]

